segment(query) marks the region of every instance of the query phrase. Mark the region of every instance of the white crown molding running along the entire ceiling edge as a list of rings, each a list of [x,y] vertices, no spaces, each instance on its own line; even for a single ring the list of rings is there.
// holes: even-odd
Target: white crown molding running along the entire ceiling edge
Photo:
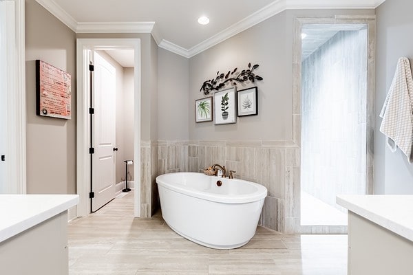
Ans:
[[[46,10],[62,21],[67,27],[76,33],[151,33],[159,47],[169,50],[180,56],[191,58],[204,50],[231,38],[232,36],[257,25],[262,21],[279,14],[284,10],[295,9],[374,9],[385,0],[335,0],[326,3],[325,0],[276,0],[264,8],[257,10],[250,16],[231,25],[222,32],[211,36],[198,45],[186,49],[162,38],[155,22],[76,22],[65,10],[54,2],[54,0],[36,0]],[[332,2],[332,3],[331,3]]]

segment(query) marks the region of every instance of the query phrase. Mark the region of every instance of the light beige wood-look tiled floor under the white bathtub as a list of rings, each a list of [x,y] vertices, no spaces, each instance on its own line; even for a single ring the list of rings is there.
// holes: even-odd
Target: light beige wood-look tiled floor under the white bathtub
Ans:
[[[285,235],[258,227],[244,247],[213,250],[183,239],[160,213],[134,219],[133,206],[129,193],[70,222],[71,275],[347,273],[346,235]]]

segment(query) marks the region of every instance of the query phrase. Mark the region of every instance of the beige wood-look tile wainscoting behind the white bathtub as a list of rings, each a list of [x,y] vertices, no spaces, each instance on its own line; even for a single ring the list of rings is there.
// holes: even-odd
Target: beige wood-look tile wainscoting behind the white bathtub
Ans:
[[[268,196],[261,225],[279,232],[295,232],[299,220],[299,205],[294,201],[299,197],[300,153],[295,143],[277,140],[142,142],[141,217],[150,217],[158,208],[157,175],[200,172],[217,163],[235,170],[237,178],[266,186]]]

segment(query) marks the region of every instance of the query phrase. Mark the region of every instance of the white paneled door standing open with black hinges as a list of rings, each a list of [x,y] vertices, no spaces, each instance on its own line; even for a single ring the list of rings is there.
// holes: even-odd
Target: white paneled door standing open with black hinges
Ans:
[[[92,211],[115,197],[116,69],[94,53]]]

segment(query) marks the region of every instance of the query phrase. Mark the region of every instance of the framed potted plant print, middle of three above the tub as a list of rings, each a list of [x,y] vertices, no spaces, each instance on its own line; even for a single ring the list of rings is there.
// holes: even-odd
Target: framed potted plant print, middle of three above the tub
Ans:
[[[237,95],[235,87],[217,91],[213,94],[215,125],[237,123]]]

